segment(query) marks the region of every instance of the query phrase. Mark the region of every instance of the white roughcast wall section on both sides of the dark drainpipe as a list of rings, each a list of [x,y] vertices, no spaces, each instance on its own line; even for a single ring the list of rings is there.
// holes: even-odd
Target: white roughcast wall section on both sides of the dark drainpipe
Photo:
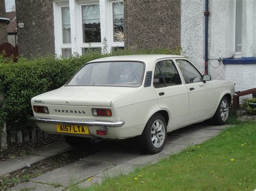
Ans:
[[[204,0],[181,0],[183,54],[188,56],[202,73],[204,73],[204,6]],[[225,79],[225,65],[218,59],[228,57],[228,7],[228,1],[209,1],[208,74],[212,79]]]

